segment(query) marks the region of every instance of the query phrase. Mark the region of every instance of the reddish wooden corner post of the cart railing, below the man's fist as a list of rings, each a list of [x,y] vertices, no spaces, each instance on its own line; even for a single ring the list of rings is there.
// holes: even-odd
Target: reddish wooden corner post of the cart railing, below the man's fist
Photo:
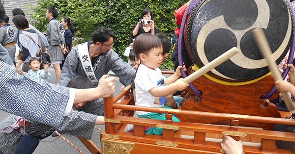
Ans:
[[[104,98],[104,109],[105,109],[105,119],[114,118],[114,96],[110,96],[108,98]],[[114,134],[115,133],[115,124],[110,122],[105,122],[106,133],[107,134]]]

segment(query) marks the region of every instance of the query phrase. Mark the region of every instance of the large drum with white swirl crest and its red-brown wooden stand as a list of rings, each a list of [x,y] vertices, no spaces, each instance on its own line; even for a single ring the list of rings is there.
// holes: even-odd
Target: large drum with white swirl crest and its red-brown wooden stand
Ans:
[[[187,54],[194,63],[188,74],[232,47],[237,47],[240,52],[194,80],[187,92],[192,96],[181,109],[280,118],[274,104],[260,99],[271,90],[274,80],[252,30],[256,27],[264,29],[272,57],[279,64],[293,41],[293,11],[288,3],[285,0],[200,0],[187,16],[186,25],[181,25],[185,27],[179,37],[184,41],[178,42],[186,49],[186,53],[181,55],[182,50],[178,48],[180,57]],[[196,95],[194,88],[202,95]],[[277,96],[278,92],[269,99]],[[228,123],[212,118],[177,117],[184,122]],[[264,129],[273,126],[243,121],[239,121],[239,125]]]

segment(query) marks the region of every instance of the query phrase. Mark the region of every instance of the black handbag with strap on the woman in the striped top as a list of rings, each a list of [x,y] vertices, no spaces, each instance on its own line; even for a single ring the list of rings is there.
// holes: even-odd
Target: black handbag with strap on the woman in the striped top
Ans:
[[[25,33],[24,33],[25,34]],[[27,34],[25,34],[27,35]],[[40,59],[40,69],[43,69],[43,65],[47,64],[48,67],[51,65],[50,55],[46,52],[44,48],[41,47],[41,42],[38,36],[38,43],[37,44],[33,38],[31,38],[29,35],[27,35],[38,47],[39,50],[36,52],[36,56]]]

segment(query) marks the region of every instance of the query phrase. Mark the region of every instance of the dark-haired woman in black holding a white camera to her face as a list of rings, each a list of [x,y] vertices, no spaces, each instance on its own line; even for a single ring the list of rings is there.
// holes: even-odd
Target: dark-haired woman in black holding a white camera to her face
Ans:
[[[158,32],[159,32],[159,29],[157,27],[155,27],[155,25],[154,25],[151,10],[149,8],[145,8],[142,11],[139,22],[133,28],[129,44],[132,43],[133,40],[140,34],[150,33],[150,34],[154,35]]]

